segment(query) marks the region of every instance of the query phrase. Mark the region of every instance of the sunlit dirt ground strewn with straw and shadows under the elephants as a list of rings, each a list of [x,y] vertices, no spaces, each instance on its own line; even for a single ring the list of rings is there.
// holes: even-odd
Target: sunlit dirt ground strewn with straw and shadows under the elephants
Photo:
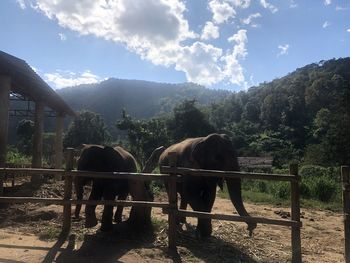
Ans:
[[[24,184],[25,185],[25,184]],[[19,186],[12,196],[61,196],[62,183],[40,188]],[[157,199],[162,200],[164,196]],[[255,216],[288,217],[289,208],[246,204]],[[98,208],[101,210],[101,207]],[[83,209],[82,209],[83,211]],[[123,217],[127,218],[125,209]],[[217,198],[216,213],[235,213],[229,200]],[[82,212],[83,216],[83,212]],[[302,209],[303,262],[343,262],[342,215],[331,211]],[[152,210],[154,230],[139,233],[126,224],[113,233],[98,226],[84,229],[84,220],[73,221],[67,240],[59,238],[62,207],[56,205],[11,205],[0,209],[0,262],[290,262],[291,231],[288,227],[258,225],[249,237],[245,223],[213,221],[213,236],[198,240],[195,219],[178,232],[176,252],[167,249],[167,216]]]

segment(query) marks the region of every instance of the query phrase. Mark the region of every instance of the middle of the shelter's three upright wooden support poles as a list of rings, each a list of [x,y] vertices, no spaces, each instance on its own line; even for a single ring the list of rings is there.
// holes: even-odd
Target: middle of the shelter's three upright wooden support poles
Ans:
[[[35,103],[35,120],[33,136],[33,158],[32,167],[41,168],[43,158],[43,133],[44,133],[44,104],[41,101]],[[40,174],[32,175],[31,181],[37,182],[41,179]]]

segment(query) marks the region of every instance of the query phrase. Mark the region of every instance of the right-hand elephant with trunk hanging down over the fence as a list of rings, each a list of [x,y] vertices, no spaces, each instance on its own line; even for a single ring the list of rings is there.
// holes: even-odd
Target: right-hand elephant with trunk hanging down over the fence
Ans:
[[[161,172],[162,166],[169,166],[170,152],[176,152],[178,167],[239,171],[236,151],[226,134],[214,133],[206,137],[190,138],[168,147],[159,158]],[[222,187],[222,184],[222,178],[184,175],[182,182],[177,183],[177,192],[181,197],[180,209],[186,209],[189,204],[195,211],[210,213],[216,197],[216,186]],[[226,178],[226,184],[237,212],[241,216],[249,216],[242,201],[241,179]],[[256,223],[247,224],[252,233]],[[198,218],[196,231],[202,238],[210,237],[211,219]]]

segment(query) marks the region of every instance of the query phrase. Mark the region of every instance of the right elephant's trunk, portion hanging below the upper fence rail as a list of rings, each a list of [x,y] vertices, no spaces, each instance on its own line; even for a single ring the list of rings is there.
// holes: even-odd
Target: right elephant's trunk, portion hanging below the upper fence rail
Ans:
[[[245,209],[242,201],[242,190],[241,190],[241,179],[235,178],[235,179],[228,179],[226,178],[226,184],[227,189],[230,194],[230,198],[232,201],[232,204],[235,206],[238,214],[240,216],[250,216],[247,210]],[[247,223],[249,235],[252,234],[252,231],[256,228],[256,223]]]

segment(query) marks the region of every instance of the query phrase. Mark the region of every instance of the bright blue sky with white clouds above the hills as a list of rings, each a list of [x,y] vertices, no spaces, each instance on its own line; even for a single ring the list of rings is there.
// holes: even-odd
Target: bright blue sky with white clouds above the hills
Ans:
[[[0,50],[54,89],[107,78],[232,91],[350,55],[350,0],[1,0]]]

